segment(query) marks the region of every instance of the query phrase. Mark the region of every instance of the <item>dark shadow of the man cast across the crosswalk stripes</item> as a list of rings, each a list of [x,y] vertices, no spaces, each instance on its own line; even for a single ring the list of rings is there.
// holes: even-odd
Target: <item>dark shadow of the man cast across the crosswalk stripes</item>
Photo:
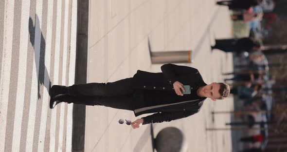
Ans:
[[[40,94],[40,85],[43,85],[46,89],[47,92],[49,93],[49,89],[51,87],[51,80],[50,80],[50,76],[49,73],[47,71],[47,68],[45,66],[45,51],[46,51],[46,42],[45,39],[43,37],[42,31],[41,31],[41,43],[40,43],[40,52],[39,52],[39,56],[37,56],[38,54],[36,53],[35,50],[35,32],[36,30],[40,30],[41,31],[41,27],[39,24],[39,19],[38,16],[35,15],[35,26],[33,23],[33,19],[31,17],[29,17],[29,33],[30,33],[30,42],[34,48],[34,57],[35,57],[35,61],[37,59],[39,59],[39,65],[36,65],[36,70],[37,70],[37,78],[38,78],[38,99],[41,98],[41,94]],[[48,55],[49,56],[49,55]],[[49,84],[44,83],[44,77],[45,75],[47,76],[48,80],[49,80]]]

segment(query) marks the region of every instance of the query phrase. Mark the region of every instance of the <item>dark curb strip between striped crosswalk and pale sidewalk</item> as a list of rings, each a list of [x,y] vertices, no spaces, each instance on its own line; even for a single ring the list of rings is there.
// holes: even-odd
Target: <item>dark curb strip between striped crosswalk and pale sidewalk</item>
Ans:
[[[87,83],[89,0],[77,0],[75,84]],[[85,151],[86,106],[73,104],[72,152]]]

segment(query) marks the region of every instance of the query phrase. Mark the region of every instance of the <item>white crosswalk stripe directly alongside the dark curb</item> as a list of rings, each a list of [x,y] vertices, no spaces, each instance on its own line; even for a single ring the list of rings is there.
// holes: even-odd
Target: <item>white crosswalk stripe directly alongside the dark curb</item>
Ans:
[[[71,39],[70,39],[70,65],[69,65],[69,85],[75,83],[75,60],[76,60],[76,39],[77,39],[77,0],[72,0],[71,18]],[[67,108],[67,129],[66,129],[66,152],[72,151],[72,111],[73,105],[68,104]]]

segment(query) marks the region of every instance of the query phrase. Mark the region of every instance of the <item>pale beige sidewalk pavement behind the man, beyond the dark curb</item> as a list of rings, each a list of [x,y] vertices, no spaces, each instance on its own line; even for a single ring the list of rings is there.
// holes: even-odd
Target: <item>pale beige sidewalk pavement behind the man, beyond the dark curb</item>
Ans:
[[[160,72],[152,65],[148,49],[193,50],[194,62],[206,83],[223,80],[232,71],[232,55],[210,50],[215,38],[231,37],[226,7],[215,0],[90,0],[87,83],[112,82],[132,77],[137,70]],[[233,109],[233,98],[207,99],[198,114],[153,124],[154,134],[175,126],[184,132],[188,152],[231,152],[231,132],[207,132],[225,127],[230,115],[211,111]],[[142,117],[139,116],[139,117]],[[102,106],[86,107],[85,152],[152,152],[150,125],[133,130],[120,118],[136,120],[132,112]]]

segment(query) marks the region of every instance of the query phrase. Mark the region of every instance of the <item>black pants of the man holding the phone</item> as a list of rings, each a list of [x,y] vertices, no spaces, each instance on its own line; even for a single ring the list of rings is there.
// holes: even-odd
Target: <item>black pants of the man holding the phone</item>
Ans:
[[[68,103],[102,105],[111,108],[134,110],[132,78],[108,83],[74,84],[69,87]]]

